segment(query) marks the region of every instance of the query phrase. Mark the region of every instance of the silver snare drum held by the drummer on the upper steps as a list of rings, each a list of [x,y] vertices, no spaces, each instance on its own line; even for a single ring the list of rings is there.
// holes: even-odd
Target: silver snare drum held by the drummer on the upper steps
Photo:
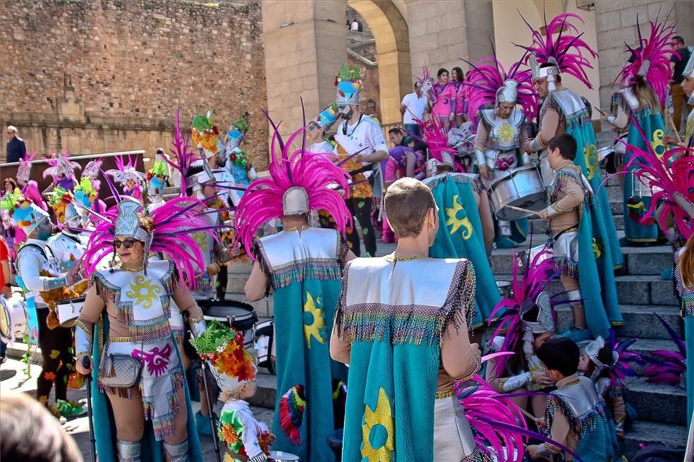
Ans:
[[[494,214],[497,219],[504,221],[518,220],[531,215],[511,209],[508,205],[540,212],[547,207],[546,197],[542,175],[536,166],[511,169],[497,176],[489,187],[489,202]]]

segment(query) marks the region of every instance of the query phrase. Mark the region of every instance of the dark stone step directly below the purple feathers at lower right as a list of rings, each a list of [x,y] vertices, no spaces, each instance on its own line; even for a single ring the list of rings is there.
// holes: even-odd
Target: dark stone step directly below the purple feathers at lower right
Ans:
[[[636,418],[648,422],[687,424],[687,391],[681,387],[649,384],[638,378],[628,382],[627,401],[636,410]]]

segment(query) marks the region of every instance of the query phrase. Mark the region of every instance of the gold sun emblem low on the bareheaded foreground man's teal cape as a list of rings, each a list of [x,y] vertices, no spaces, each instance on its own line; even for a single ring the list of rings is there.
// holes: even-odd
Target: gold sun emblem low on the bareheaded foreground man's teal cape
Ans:
[[[395,449],[394,420],[384,389],[378,391],[376,410],[366,406],[362,425],[362,457],[368,462],[391,462]]]

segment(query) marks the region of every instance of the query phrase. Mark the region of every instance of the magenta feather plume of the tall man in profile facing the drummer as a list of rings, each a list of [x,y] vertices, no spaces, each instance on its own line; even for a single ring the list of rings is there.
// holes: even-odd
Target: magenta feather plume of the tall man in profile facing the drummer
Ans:
[[[523,18],[523,15],[520,15],[520,18]],[[578,78],[578,80],[585,83],[588,88],[592,88],[588,80],[588,74],[585,73],[585,68],[592,69],[592,66],[588,58],[583,55],[582,50],[588,51],[593,59],[597,58],[597,53],[590,48],[585,40],[580,38],[583,32],[580,34],[578,33],[578,28],[571,23],[571,18],[578,18],[581,23],[584,23],[583,18],[576,13],[562,13],[554,16],[549,24],[547,24],[547,18],[545,18],[544,28],[546,32],[544,36],[540,30],[533,28],[532,25],[523,18],[523,22],[525,22],[532,31],[532,44],[527,47],[516,43],[514,43],[514,45],[530,52],[528,61],[530,61],[529,64],[533,79],[540,76],[537,75],[537,71],[539,71],[538,65],[551,63],[559,68],[560,73],[573,75]],[[554,34],[557,34],[556,39],[554,38]],[[537,61],[533,62],[535,59],[537,59]]]

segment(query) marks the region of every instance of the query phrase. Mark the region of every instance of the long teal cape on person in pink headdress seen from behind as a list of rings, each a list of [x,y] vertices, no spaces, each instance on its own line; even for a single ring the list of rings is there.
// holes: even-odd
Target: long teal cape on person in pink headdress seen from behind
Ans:
[[[339,234],[334,230],[319,230]],[[268,238],[280,237],[279,234]],[[257,243],[258,241],[256,241]],[[339,255],[346,255],[340,240]],[[327,437],[343,425],[343,411],[334,408],[334,392],[347,382],[347,367],[330,358],[330,332],[342,287],[338,259],[330,262],[293,261],[281,269],[268,267],[264,251],[254,250],[268,281],[274,288],[277,394],[272,432],[274,451],[295,454],[300,461],[333,462]],[[291,399],[303,387],[305,407],[293,407]],[[287,406],[291,415],[303,413],[298,427],[300,444],[292,442],[282,425]]]

